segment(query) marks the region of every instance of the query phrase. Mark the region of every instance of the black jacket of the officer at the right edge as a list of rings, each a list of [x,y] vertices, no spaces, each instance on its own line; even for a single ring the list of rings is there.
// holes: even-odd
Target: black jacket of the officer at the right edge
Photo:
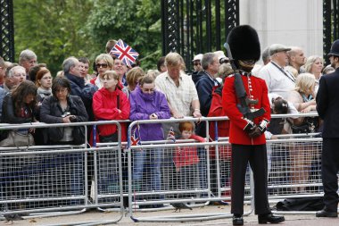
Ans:
[[[317,111],[323,123],[323,138],[339,138],[339,68],[323,75],[316,97]]]

